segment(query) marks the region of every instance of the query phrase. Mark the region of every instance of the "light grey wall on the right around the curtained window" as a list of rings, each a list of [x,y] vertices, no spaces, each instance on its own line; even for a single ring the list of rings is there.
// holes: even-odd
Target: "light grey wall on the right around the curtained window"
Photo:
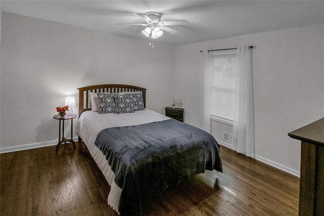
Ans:
[[[200,50],[253,45],[257,159],[298,175],[300,141],[287,134],[324,117],[323,43],[323,25],[313,25],[176,46],[175,94],[186,123],[200,126]]]

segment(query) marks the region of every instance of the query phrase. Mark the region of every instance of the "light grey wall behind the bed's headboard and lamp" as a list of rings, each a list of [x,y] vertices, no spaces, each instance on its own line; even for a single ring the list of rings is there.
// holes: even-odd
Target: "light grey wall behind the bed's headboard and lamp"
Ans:
[[[1,42],[2,152],[57,143],[55,107],[65,96],[78,101],[78,87],[141,86],[149,109],[163,113],[170,103],[174,46],[5,12]]]

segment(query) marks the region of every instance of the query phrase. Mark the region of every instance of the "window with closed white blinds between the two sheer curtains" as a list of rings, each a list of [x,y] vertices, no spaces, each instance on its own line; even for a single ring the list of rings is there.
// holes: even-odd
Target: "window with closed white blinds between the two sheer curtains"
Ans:
[[[213,57],[212,117],[234,119],[236,52],[216,53]]]

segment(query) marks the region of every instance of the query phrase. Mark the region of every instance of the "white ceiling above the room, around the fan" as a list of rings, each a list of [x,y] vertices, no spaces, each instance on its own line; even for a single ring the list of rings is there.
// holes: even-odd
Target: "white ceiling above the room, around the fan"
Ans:
[[[161,20],[185,19],[156,42],[183,45],[324,23],[324,1],[1,1],[5,12],[146,39],[136,13],[156,11]]]

